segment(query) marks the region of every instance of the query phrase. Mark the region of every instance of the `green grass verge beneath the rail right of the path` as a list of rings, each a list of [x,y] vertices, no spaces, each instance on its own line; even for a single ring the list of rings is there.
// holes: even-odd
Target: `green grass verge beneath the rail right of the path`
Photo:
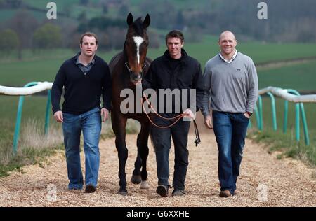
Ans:
[[[305,145],[303,123],[300,114],[300,142],[296,142],[295,105],[289,102],[289,117],[287,120],[287,133],[283,133],[284,99],[276,99],[277,131],[272,130],[272,111],[270,99],[263,97],[263,131],[251,131],[249,137],[255,141],[267,143],[270,151],[279,150],[283,156],[294,157],[303,162],[316,165],[316,104],[304,104],[310,145]],[[256,119],[252,117],[252,125],[256,128]]]

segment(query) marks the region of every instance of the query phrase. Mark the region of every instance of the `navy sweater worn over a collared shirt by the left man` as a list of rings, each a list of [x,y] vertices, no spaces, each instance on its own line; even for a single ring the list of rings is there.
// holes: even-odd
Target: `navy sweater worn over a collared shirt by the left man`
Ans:
[[[81,71],[75,62],[76,56],[65,61],[56,75],[51,90],[53,113],[60,109],[62,87],[65,87],[62,112],[80,115],[93,108],[100,108],[100,97],[103,97],[103,108],[110,110],[112,98],[112,79],[107,63],[95,55],[96,63],[87,73]]]

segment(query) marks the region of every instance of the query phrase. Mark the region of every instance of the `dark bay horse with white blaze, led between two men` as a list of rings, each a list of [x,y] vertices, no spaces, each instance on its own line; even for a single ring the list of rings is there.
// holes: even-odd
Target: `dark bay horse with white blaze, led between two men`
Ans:
[[[135,110],[133,113],[122,113],[120,106],[125,98],[120,97],[120,94],[121,90],[126,88],[133,90],[134,94],[136,94],[136,83],[147,73],[152,62],[146,57],[148,46],[147,27],[150,25],[150,16],[147,14],[144,21],[139,17],[134,22],[133,15],[129,13],[126,21],[129,29],[126,34],[124,50],[115,55],[109,64],[112,76],[111,120],[112,129],[116,136],[115,145],[119,155],[119,194],[124,196],[127,194],[125,173],[125,164],[128,157],[125,141],[127,119],[138,120],[141,124],[140,133],[137,137],[137,158],[131,182],[134,184],[141,183],[140,188],[143,189],[149,188],[146,181],[146,161],[148,156],[147,143],[150,134],[150,122],[143,112],[136,113]],[[136,102],[140,102],[140,100],[136,100],[135,96],[135,109]]]

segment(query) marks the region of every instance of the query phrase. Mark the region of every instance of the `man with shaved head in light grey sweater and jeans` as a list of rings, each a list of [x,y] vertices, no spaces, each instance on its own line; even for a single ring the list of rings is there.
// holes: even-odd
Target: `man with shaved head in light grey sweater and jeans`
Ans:
[[[220,197],[230,197],[236,190],[246,130],[258,98],[258,77],[252,59],[235,49],[237,40],[231,31],[220,34],[218,44],[219,54],[206,62],[204,70],[202,113],[218,145]]]

